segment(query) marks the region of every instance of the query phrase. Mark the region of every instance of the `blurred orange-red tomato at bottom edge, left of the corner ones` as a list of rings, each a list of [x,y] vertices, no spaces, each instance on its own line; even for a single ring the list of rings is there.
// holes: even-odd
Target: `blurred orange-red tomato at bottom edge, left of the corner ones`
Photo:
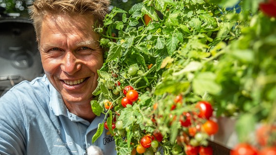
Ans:
[[[257,155],[257,150],[247,143],[239,143],[230,151],[230,155]]]

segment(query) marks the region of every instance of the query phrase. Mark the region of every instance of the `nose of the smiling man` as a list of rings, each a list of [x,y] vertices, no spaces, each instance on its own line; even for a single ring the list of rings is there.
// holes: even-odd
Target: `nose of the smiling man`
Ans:
[[[73,75],[81,69],[81,64],[72,52],[66,52],[62,59],[61,70],[69,75]]]

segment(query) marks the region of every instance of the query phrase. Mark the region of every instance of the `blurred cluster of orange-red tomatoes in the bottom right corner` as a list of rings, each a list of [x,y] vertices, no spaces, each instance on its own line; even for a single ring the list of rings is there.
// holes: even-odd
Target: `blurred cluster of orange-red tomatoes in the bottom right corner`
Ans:
[[[255,132],[256,142],[237,144],[230,155],[276,155],[276,125],[262,124]]]

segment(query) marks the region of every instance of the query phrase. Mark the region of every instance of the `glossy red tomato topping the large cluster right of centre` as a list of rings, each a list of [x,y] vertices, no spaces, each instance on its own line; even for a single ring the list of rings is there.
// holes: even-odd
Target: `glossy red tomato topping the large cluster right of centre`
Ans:
[[[207,101],[199,101],[195,105],[199,109],[198,117],[209,119],[213,115],[212,105]]]

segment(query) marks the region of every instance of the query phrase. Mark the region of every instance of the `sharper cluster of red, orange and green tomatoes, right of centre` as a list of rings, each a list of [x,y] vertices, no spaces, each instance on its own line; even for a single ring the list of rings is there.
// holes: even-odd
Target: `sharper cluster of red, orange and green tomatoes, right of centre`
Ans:
[[[175,97],[171,110],[174,110],[175,104],[182,104],[181,95]],[[195,111],[183,112],[179,118],[182,130],[176,138],[177,143],[173,146],[173,155],[181,153],[182,148],[186,155],[213,155],[207,139],[218,132],[219,125],[211,119],[212,105],[207,101],[199,101],[194,108]],[[175,117],[171,116],[172,121],[175,121]]]

